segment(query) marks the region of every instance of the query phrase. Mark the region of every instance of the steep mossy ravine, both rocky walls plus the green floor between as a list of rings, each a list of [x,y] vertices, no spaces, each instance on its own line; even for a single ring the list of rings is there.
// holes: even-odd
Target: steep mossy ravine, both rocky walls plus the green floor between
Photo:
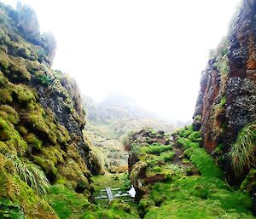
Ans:
[[[0,3],[0,218],[254,218],[256,0],[202,72],[193,125],[128,136],[129,176],[97,176],[79,89],[50,68],[55,44],[33,13]],[[129,180],[136,203],[93,198]]]

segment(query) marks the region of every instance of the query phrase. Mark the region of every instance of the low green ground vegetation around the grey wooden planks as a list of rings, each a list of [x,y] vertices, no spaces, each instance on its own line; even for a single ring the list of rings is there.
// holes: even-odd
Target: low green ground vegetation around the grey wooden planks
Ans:
[[[106,187],[119,187],[124,192],[131,187],[127,174],[93,176],[92,180],[95,194],[100,193]],[[132,202],[126,203],[120,198],[114,199],[108,205],[108,199],[96,199],[96,205],[93,205],[88,201],[88,194],[75,193],[68,188],[67,181],[59,181],[58,183],[51,187],[46,199],[60,219],[139,218],[136,205]]]

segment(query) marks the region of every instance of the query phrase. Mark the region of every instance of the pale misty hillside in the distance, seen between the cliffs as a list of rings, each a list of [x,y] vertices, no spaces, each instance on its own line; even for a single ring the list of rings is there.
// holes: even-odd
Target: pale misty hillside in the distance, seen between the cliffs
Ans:
[[[174,129],[174,124],[155,118],[123,95],[109,95],[101,103],[88,96],[83,99],[88,118],[84,133],[101,149],[106,170],[111,172],[127,164],[134,130],[152,127],[169,132]]]

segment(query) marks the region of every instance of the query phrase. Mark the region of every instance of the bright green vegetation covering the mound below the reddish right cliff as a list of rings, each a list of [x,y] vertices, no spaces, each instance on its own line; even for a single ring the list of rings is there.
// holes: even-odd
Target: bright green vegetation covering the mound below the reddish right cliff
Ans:
[[[145,193],[138,205],[140,215],[145,219],[253,218],[249,193],[236,191],[224,181],[223,173],[214,158],[201,147],[201,132],[196,132],[193,127],[188,126],[174,135],[177,141],[168,153],[182,154],[180,161],[171,159],[164,163],[158,162],[153,167],[145,165],[144,178],[139,175],[141,169],[135,170],[137,164],[142,161],[137,162],[131,171],[134,175],[131,179],[137,177],[142,182],[141,189]],[[162,153],[151,154],[144,147],[137,147],[140,160],[148,160],[148,156],[155,156],[160,160]],[[180,150],[184,152],[181,153]],[[137,176],[133,172],[137,172]],[[154,179],[160,174],[165,175],[165,180],[143,184],[149,178]],[[254,172],[251,172],[243,187],[251,187],[254,177]],[[131,182],[136,186],[136,180]]]

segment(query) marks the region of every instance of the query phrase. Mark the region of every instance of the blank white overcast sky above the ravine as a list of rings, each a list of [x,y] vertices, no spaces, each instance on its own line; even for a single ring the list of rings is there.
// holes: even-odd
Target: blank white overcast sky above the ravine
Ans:
[[[15,0],[0,0],[12,5]],[[54,68],[101,101],[111,91],[188,120],[208,51],[227,32],[239,0],[23,0],[55,34]]]

